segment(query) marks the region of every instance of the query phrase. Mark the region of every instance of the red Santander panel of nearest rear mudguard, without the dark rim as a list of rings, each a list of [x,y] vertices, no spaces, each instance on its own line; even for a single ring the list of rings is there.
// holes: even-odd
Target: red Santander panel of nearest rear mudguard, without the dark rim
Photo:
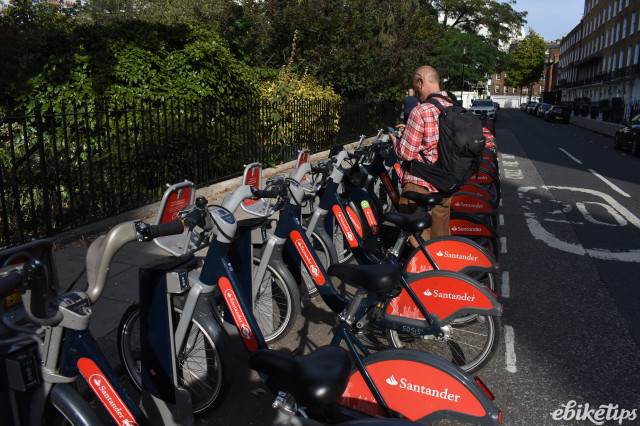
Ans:
[[[462,383],[429,365],[390,360],[367,366],[367,372],[389,408],[409,420],[419,420],[441,410],[478,417],[486,414]],[[384,416],[360,372],[351,376],[338,403],[372,416]]]

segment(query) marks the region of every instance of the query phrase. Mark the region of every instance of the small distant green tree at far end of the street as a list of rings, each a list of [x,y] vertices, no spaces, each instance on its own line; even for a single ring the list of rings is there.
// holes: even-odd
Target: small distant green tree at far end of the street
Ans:
[[[547,44],[535,31],[518,43],[511,52],[510,65],[505,68],[507,78],[505,84],[513,87],[529,87],[529,99],[531,99],[531,86],[540,80],[544,70],[545,52]]]

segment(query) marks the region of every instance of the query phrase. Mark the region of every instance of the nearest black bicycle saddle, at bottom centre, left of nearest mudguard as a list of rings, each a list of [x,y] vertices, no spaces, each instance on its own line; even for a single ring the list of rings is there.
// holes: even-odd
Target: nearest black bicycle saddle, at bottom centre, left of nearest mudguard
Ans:
[[[298,404],[314,410],[338,399],[351,376],[349,353],[334,345],[301,357],[260,349],[249,356],[249,367],[268,375],[270,388],[287,391]]]

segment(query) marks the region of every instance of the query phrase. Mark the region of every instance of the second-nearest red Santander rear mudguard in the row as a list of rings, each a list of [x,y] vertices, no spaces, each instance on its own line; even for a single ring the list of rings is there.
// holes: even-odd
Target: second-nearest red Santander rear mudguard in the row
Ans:
[[[409,287],[434,315],[440,326],[467,314],[502,315],[496,296],[472,278],[459,272],[431,271],[412,275]],[[385,314],[393,317],[424,320],[406,289],[387,302]],[[394,319],[394,318],[390,318]]]

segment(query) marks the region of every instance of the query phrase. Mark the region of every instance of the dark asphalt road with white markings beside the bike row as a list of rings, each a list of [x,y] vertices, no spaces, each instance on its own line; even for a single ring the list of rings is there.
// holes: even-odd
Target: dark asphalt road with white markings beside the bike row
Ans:
[[[519,111],[496,133],[506,345],[481,376],[505,423],[593,424],[552,418],[570,401],[640,408],[640,160]]]

